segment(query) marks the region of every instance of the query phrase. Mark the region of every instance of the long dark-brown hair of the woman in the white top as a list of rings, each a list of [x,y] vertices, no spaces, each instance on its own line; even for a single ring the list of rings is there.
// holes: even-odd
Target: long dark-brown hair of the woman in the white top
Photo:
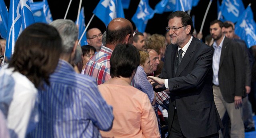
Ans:
[[[28,26],[18,37],[8,67],[25,75],[35,87],[49,84],[61,53],[62,40],[58,31],[47,24]]]

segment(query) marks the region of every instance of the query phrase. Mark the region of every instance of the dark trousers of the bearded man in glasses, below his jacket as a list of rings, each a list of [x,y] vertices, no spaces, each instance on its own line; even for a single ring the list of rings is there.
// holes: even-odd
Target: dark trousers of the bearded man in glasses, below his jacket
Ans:
[[[180,123],[178,120],[177,110],[174,110],[173,121],[172,121],[172,125],[170,127],[171,127],[171,131],[170,131],[169,138],[186,138],[182,134],[182,131],[180,129]],[[217,132],[216,134],[212,134],[210,136],[201,137],[201,138],[219,138],[219,134]]]

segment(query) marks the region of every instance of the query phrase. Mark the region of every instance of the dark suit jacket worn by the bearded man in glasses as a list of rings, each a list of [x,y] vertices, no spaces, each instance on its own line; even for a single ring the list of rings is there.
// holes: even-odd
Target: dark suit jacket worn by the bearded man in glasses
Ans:
[[[168,79],[169,84],[169,134],[174,106],[185,137],[218,133],[222,123],[213,99],[212,54],[208,45],[193,37],[175,75],[178,46],[168,45],[166,48],[164,68],[159,77]]]

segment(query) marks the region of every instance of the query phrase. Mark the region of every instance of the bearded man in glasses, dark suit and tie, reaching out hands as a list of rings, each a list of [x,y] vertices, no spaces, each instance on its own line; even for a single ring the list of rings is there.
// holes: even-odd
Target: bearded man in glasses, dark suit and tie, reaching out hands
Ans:
[[[186,12],[172,12],[168,20],[171,45],[164,68],[159,78],[148,79],[170,91],[169,137],[218,138],[221,120],[212,93],[212,49],[192,36],[193,22]]]

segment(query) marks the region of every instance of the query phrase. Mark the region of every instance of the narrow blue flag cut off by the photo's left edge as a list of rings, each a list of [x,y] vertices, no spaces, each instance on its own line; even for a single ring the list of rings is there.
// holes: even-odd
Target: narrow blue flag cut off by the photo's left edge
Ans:
[[[8,29],[8,11],[4,0],[0,0],[0,35],[6,39]]]

